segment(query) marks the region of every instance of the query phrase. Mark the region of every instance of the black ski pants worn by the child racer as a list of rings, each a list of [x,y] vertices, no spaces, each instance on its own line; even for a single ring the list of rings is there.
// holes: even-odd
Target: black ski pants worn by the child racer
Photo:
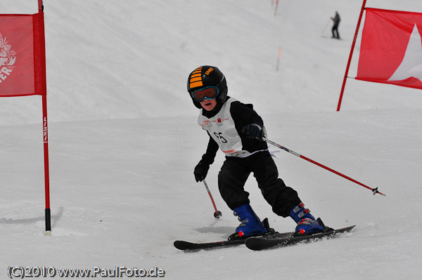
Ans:
[[[290,210],[300,204],[298,192],[286,187],[279,178],[279,171],[271,154],[264,151],[245,158],[226,156],[219,171],[218,186],[222,198],[231,210],[250,203],[249,193],[244,189],[250,173],[253,173],[264,199],[277,215],[288,217]]]

